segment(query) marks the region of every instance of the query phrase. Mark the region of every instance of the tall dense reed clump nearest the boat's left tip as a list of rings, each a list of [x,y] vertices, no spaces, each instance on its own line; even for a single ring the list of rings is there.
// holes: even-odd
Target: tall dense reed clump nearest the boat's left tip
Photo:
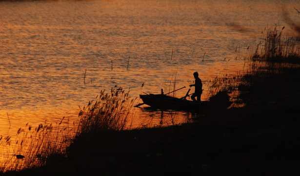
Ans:
[[[90,101],[80,110],[77,134],[99,132],[101,130],[124,130],[128,118],[133,115],[135,99],[129,98],[129,91],[115,86],[110,93],[100,91],[95,103]]]

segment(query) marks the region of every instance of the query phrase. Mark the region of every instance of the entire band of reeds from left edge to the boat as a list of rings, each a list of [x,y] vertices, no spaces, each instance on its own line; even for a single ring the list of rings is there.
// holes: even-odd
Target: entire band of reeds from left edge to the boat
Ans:
[[[133,118],[134,101],[129,97],[129,91],[125,92],[122,88],[114,87],[110,93],[102,90],[94,104],[90,101],[80,110],[80,120],[76,125],[74,122],[73,127],[69,127],[69,121],[63,117],[55,126],[44,122],[34,128],[26,124],[13,139],[11,136],[0,136],[0,173],[40,167],[52,160],[63,160],[66,149],[76,135],[101,130],[131,129],[131,124],[127,122],[130,117]]]

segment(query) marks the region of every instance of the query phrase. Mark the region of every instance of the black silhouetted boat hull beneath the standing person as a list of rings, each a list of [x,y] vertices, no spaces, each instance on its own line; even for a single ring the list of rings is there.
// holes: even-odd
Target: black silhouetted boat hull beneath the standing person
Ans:
[[[186,99],[171,97],[164,94],[140,95],[143,104],[161,110],[198,111],[208,106],[209,101],[194,102]]]

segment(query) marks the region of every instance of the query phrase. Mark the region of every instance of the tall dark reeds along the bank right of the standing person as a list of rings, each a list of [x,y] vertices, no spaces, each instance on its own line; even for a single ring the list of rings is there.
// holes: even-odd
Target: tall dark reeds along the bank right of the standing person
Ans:
[[[237,72],[235,75],[227,75],[226,72],[217,76],[213,80],[207,81],[208,97],[214,99],[214,96],[227,91],[230,94],[230,101],[233,106],[240,106],[240,93],[248,85],[257,82],[256,79],[248,79],[252,75],[256,78],[264,79],[266,74],[279,74],[282,68],[293,67],[295,63],[300,64],[300,46],[299,39],[288,33],[284,33],[284,28],[278,30],[266,28],[262,33],[261,41],[256,45],[255,51],[242,59],[250,59],[248,69]],[[247,48],[247,50],[249,47]],[[240,47],[236,47],[239,52]]]

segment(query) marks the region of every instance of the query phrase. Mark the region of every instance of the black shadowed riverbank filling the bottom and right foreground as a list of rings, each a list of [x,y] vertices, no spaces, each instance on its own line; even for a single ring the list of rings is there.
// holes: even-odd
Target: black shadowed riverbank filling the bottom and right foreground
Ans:
[[[243,108],[193,124],[81,135],[68,157],[5,175],[299,175],[299,77],[299,67],[248,75]]]

